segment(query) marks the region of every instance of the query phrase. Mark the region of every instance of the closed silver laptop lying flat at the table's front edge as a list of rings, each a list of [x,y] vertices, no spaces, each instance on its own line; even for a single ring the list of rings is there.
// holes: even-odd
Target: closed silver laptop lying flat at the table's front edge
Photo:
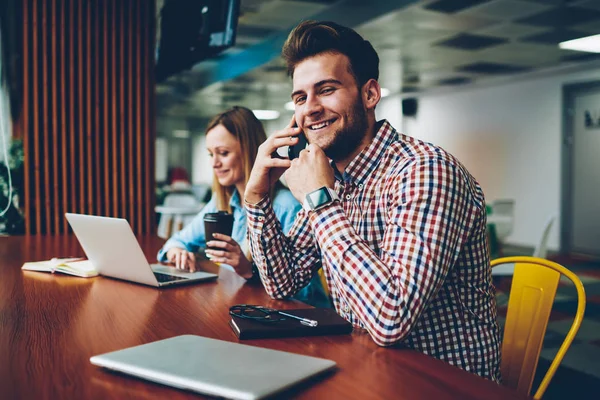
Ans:
[[[228,399],[261,399],[331,370],[335,362],[183,335],[90,358],[94,365]]]

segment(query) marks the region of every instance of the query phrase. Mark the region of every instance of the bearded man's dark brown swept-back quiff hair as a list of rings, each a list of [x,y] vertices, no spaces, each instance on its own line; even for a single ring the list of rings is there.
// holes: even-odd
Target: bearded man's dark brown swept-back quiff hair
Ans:
[[[321,53],[340,53],[348,57],[348,71],[359,88],[369,79],[379,79],[379,56],[371,43],[353,29],[335,22],[301,22],[290,32],[281,51],[292,77],[300,62]]]

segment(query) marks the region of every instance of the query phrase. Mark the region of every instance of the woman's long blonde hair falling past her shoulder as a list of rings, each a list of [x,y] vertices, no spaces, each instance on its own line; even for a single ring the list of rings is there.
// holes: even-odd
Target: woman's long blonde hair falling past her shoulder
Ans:
[[[244,181],[248,182],[250,171],[252,171],[258,153],[258,146],[267,140],[265,129],[252,111],[238,106],[216,115],[208,123],[206,132],[208,133],[217,125],[223,125],[240,142],[242,154],[240,162],[244,171]],[[216,176],[213,177],[213,194],[216,197],[219,210],[232,212],[229,201],[234,190],[234,186],[222,186]],[[244,193],[240,193],[240,196],[243,195]]]

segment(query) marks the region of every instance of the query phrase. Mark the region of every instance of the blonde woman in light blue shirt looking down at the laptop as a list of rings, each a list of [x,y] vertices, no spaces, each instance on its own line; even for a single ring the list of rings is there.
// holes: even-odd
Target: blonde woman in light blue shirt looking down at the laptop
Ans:
[[[246,244],[246,211],[240,194],[246,190],[258,147],[265,140],[262,124],[252,111],[244,107],[233,107],[209,122],[206,147],[214,172],[213,196],[190,224],[165,243],[158,253],[159,261],[194,270],[194,253],[210,245],[215,249],[206,249],[205,252],[213,261],[231,266],[246,279],[254,276],[256,270],[252,267]],[[301,205],[281,184],[276,185],[270,198],[282,230],[289,231]],[[219,240],[207,244],[204,215],[217,211],[233,214],[233,232],[231,236],[215,234]],[[330,306],[317,274],[294,298],[312,305]]]

